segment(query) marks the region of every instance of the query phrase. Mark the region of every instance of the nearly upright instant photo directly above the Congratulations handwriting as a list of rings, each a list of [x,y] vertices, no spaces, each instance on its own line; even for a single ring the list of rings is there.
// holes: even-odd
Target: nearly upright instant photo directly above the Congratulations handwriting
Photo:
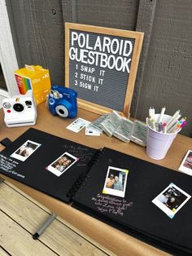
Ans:
[[[108,166],[103,194],[124,197],[129,170]]]

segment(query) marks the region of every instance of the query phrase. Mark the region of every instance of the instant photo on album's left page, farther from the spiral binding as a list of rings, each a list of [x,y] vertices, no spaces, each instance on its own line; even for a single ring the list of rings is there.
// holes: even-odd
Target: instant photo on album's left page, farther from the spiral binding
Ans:
[[[18,159],[20,161],[25,161],[40,146],[41,146],[40,143],[36,143],[36,142],[34,142],[32,140],[27,140],[22,146],[20,146],[20,148],[15,150],[15,152],[13,152],[10,157]]]

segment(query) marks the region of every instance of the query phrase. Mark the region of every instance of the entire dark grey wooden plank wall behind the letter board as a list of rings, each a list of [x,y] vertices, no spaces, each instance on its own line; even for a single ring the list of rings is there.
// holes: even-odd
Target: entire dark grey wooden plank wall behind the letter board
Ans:
[[[192,2],[190,0],[7,0],[20,67],[41,64],[51,82],[64,85],[64,23],[76,22],[145,33],[131,116],[148,108],[181,108],[192,136]]]

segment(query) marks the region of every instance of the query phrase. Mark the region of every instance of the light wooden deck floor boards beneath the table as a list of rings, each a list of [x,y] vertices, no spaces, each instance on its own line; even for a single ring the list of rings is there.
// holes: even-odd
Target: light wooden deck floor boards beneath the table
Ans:
[[[112,255],[59,217],[33,240],[49,215],[50,210],[11,183],[0,183],[0,255]]]

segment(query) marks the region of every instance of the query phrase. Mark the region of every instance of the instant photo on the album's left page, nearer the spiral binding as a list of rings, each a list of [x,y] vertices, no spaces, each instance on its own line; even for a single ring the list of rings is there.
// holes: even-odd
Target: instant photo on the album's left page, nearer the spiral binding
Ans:
[[[77,157],[72,156],[68,152],[64,152],[63,155],[53,161],[50,166],[47,166],[46,170],[50,170],[51,173],[59,177],[72,165],[74,165],[76,161],[78,161]]]

